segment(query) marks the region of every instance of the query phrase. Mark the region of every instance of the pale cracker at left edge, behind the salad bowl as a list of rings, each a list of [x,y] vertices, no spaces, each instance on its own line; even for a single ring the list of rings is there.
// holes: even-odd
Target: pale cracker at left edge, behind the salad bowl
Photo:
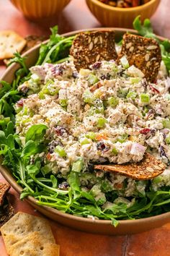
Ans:
[[[0,31],[0,59],[9,59],[16,51],[20,52],[26,45],[26,40],[14,31]]]

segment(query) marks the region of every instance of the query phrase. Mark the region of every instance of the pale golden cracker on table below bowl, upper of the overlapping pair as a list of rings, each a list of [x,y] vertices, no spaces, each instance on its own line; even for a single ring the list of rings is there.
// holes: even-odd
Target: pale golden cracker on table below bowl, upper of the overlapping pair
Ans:
[[[20,212],[14,215],[14,217],[1,227],[6,251],[9,253],[13,244],[19,242],[23,237],[28,236],[34,231],[44,236],[46,242],[55,243],[50,225],[44,218]]]

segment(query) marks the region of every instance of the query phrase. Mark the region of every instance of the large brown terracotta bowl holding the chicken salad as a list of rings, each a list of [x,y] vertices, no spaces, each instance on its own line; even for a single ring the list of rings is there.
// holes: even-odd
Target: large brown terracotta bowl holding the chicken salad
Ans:
[[[90,30],[103,30],[104,28],[97,28],[97,29],[88,29]],[[118,28],[112,28],[115,30],[116,33],[116,40],[120,40],[122,35],[127,32],[126,29],[118,29]],[[84,31],[84,30],[81,30]],[[64,36],[71,36],[75,35],[76,33],[81,32],[75,31],[72,33],[64,34]],[[135,30],[128,30],[130,33],[135,33]],[[164,38],[158,37],[160,40],[164,40]],[[30,51],[27,51],[27,53],[24,54],[24,56],[27,56],[26,64],[27,67],[31,67],[35,64],[37,61],[38,53],[39,53],[39,46],[35,46],[34,48],[30,49]],[[14,79],[14,72],[18,69],[17,64],[12,64],[10,67],[6,69],[6,72],[4,73],[3,77],[1,77],[1,80],[5,80],[6,82],[12,82]],[[22,187],[17,184],[16,180],[14,179],[14,176],[12,176],[11,171],[8,168],[5,168],[4,166],[0,166],[1,174],[4,176],[7,182],[11,184],[11,186],[17,190],[17,192],[22,192]],[[120,221],[117,228],[111,225],[111,221],[102,221],[102,220],[91,220],[89,218],[83,218],[83,217],[77,217],[72,216],[68,213],[62,213],[59,210],[55,210],[53,208],[49,208],[46,206],[40,206],[37,205],[37,202],[35,198],[33,197],[27,197],[25,199],[27,202],[29,202],[34,208],[39,210],[41,213],[43,213],[45,216],[48,216],[49,218],[52,218],[55,221],[58,221],[59,223],[62,223],[63,225],[69,226],[73,229],[79,229],[81,231],[87,231],[91,233],[97,233],[97,234],[112,234],[112,235],[122,235],[122,234],[135,234],[143,231],[147,231],[149,229],[154,229],[159,226],[164,225],[165,223],[168,223],[170,221],[170,213],[163,213],[158,216],[153,216],[149,218],[140,218],[135,221]]]

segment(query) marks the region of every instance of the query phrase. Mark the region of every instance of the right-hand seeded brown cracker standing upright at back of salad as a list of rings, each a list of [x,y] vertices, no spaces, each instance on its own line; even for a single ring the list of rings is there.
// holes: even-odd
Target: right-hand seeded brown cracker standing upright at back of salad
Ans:
[[[130,66],[138,67],[149,82],[156,80],[161,64],[161,48],[152,38],[125,34],[119,59],[126,56]]]

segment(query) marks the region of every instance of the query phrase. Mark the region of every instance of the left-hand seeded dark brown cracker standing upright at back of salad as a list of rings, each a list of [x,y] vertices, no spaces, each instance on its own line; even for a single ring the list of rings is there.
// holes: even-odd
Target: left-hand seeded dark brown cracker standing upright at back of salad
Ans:
[[[76,69],[87,69],[96,61],[117,59],[115,32],[111,30],[80,33],[76,35],[70,54]]]

